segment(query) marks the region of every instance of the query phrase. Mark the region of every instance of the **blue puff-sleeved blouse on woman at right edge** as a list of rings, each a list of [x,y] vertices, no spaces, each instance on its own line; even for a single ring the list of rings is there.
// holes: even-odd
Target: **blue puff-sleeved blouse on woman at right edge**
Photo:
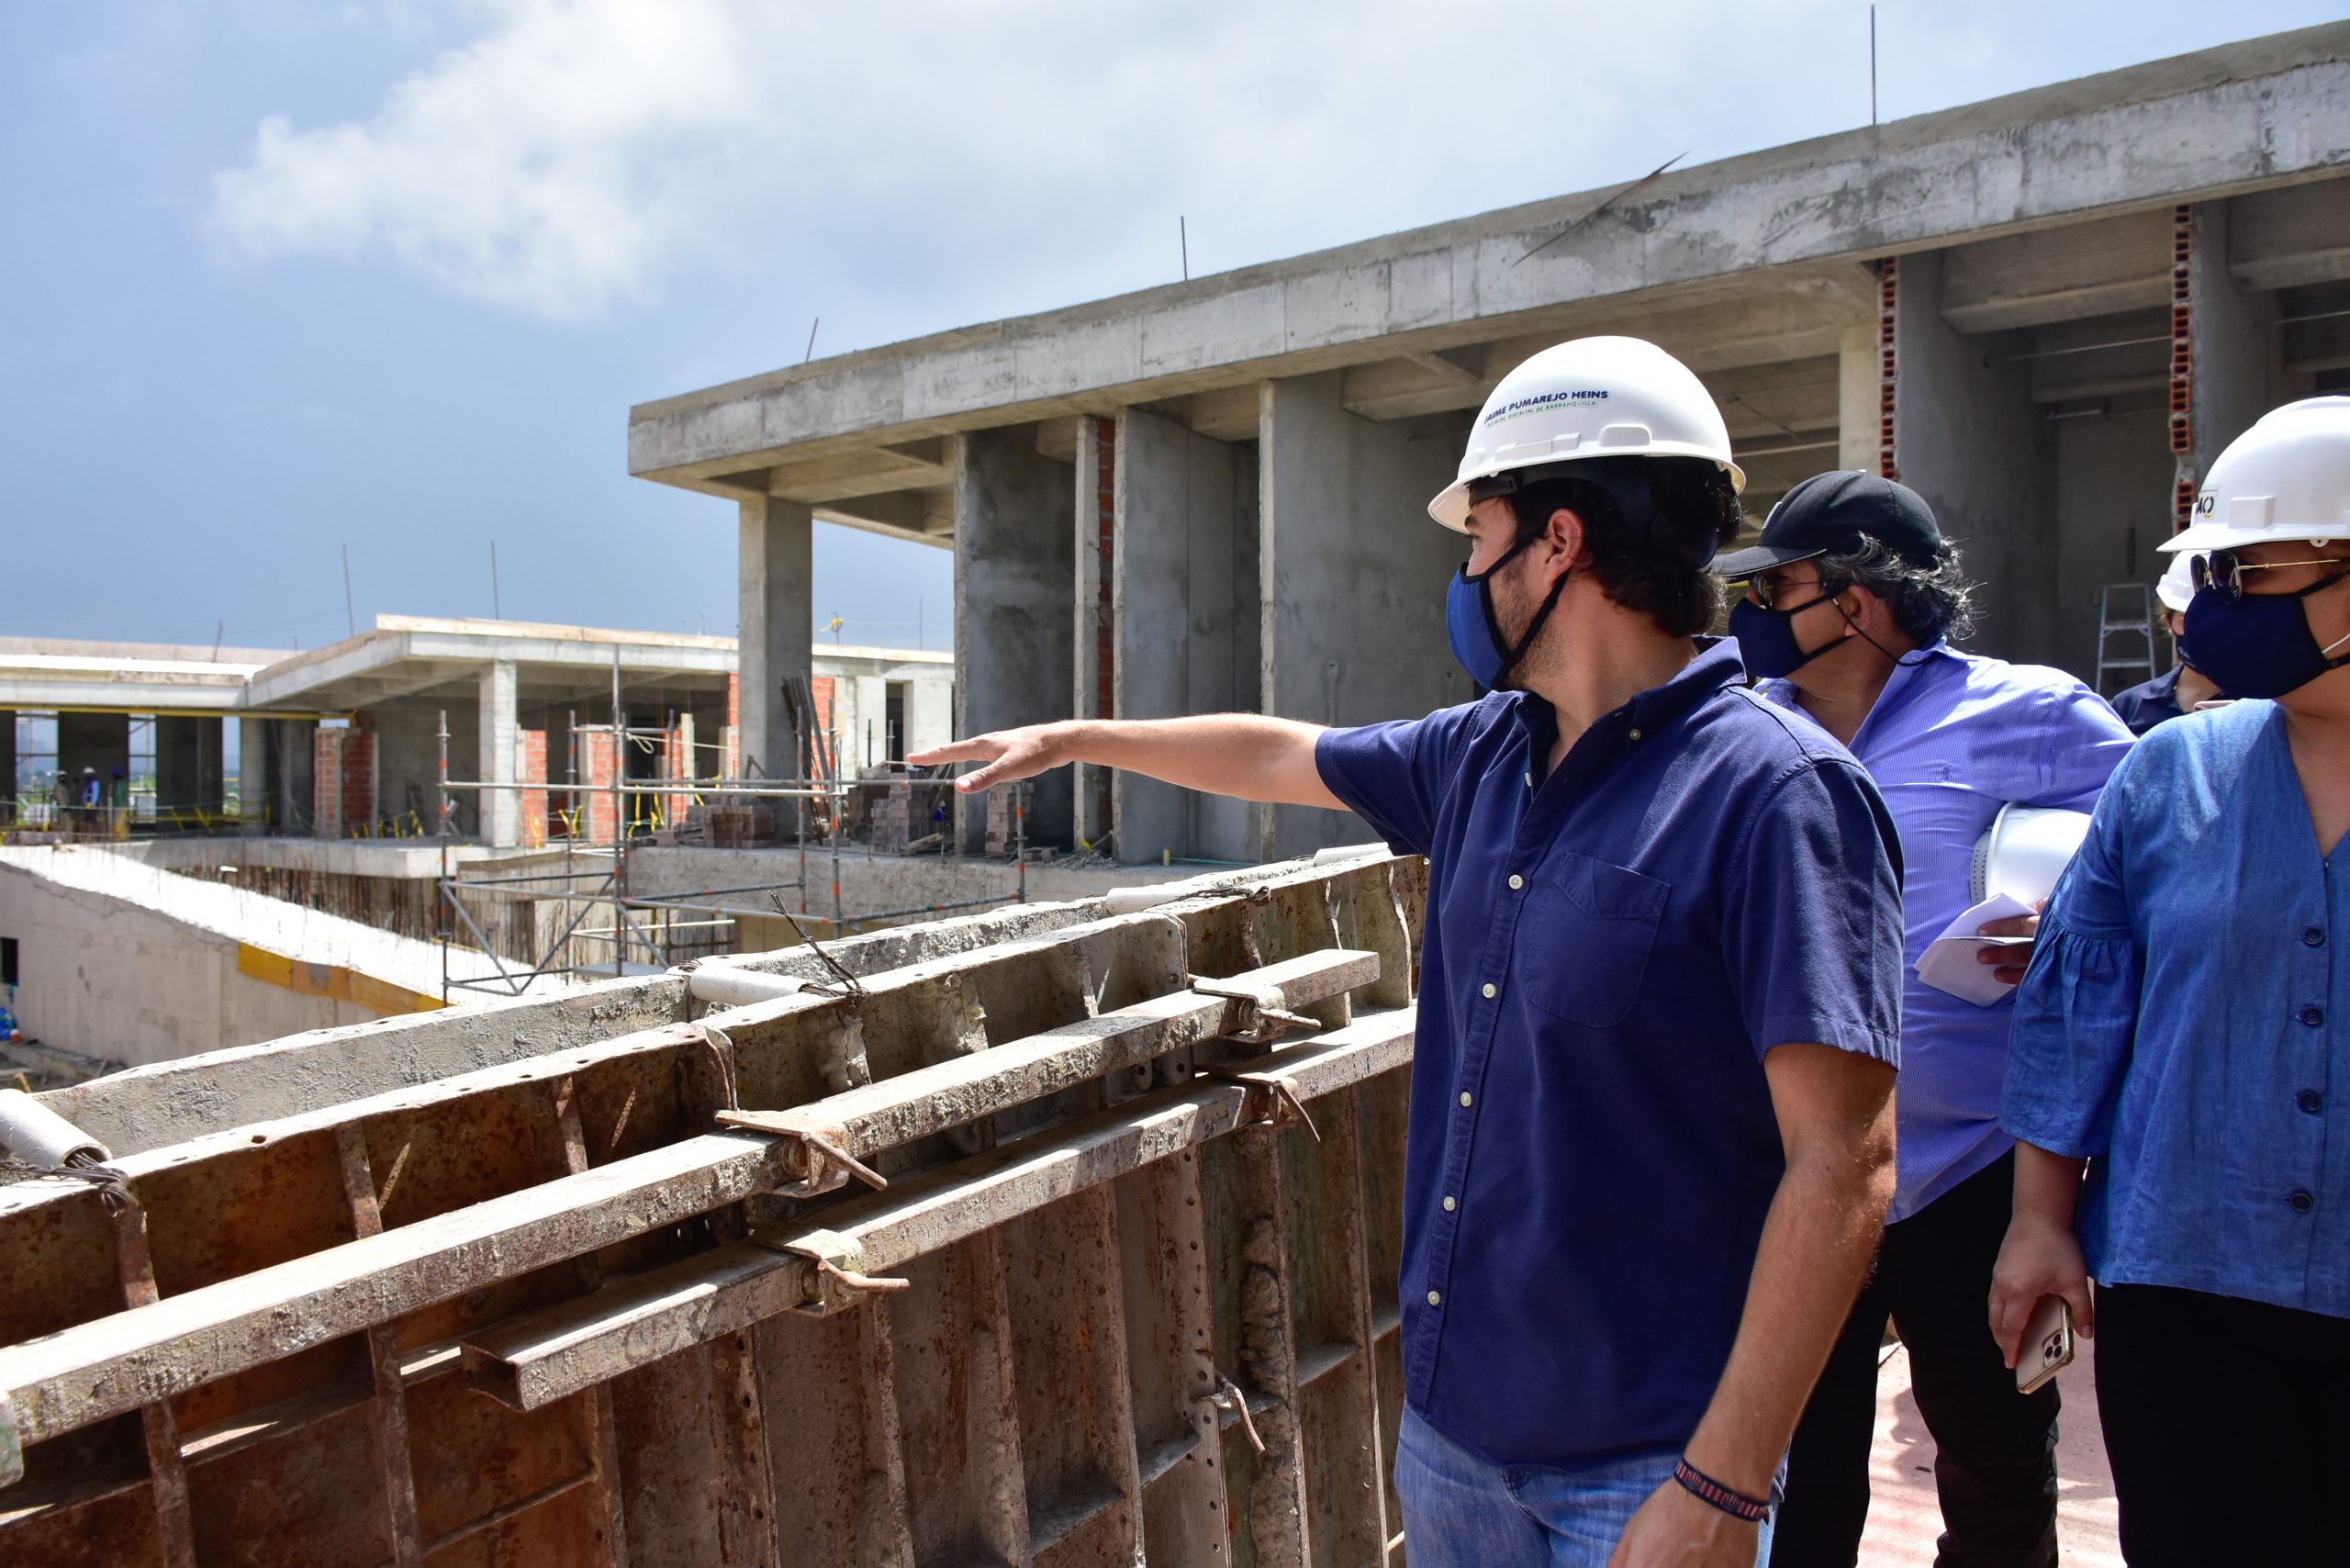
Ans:
[[[2350,1316],[2343,846],[2317,853],[2275,703],[2162,724],[2106,785],[2016,992],[2000,1105],[2014,1138],[2092,1157],[2101,1284]]]

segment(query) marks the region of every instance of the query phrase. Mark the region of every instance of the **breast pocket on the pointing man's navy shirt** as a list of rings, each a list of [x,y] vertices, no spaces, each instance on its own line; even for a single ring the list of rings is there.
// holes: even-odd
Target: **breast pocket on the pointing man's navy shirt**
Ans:
[[[1647,978],[1666,896],[1654,877],[1553,853],[1518,922],[1511,969],[1528,1001],[1593,1030],[1624,1023]]]

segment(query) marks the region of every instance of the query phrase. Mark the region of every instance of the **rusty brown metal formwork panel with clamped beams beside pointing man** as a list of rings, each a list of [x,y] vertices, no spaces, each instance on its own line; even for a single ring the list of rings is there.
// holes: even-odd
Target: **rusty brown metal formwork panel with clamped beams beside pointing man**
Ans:
[[[1398,1563],[1422,907],[1267,867],[0,1187],[0,1563]]]

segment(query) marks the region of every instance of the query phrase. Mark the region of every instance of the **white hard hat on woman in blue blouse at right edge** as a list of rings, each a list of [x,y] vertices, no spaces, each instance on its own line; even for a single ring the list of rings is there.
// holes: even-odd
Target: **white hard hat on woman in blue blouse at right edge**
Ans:
[[[2162,550],[2204,552],[2280,538],[2350,538],[2350,397],[2270,409],[2211,458],[2195,522]]]

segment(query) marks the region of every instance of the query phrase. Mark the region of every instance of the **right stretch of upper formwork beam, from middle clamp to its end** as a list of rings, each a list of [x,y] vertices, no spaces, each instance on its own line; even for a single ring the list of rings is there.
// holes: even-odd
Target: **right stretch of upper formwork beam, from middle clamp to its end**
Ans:
[[[1330,947],[1217,985],[1274,992],[1281,997],[1276,1006],[1304,1009],[1344,997],[1377,978],[1379,954]],[[1224,997],[1170,992],[794,1110],[719,1112],[719,1121],[768,1133],[822,1133],[851,1154],[865,1157],[1227,1034],[1241,1027],[1241,1013],[1243,1004]]]

